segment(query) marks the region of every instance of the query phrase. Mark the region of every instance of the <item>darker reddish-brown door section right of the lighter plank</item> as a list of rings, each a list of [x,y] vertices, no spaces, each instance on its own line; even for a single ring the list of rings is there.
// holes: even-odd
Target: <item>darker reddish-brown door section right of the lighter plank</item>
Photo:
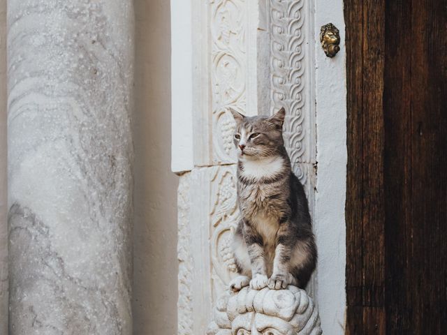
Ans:
[[[446,1],[386,7],[388,334],[446,333],[446,17]]]

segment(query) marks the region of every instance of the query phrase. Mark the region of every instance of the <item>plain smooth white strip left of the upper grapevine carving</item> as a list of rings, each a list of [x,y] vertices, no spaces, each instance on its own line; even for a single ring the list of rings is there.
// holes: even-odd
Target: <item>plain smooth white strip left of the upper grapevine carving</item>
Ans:
[[[191,1],[171,0],[171,96],[173,172],[193,168]]]

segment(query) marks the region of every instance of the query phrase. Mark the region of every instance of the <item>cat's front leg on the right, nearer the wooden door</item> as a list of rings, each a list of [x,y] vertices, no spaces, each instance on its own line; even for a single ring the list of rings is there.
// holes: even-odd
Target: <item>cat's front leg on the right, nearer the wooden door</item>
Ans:
[[[294,282],[289,269],[293,241],[290,232],[284,225],[286,223],[278,232],[277,247],[274,251],[273,274],[268,280],[268,288],[271,290],[284,290],[287,285]]]

